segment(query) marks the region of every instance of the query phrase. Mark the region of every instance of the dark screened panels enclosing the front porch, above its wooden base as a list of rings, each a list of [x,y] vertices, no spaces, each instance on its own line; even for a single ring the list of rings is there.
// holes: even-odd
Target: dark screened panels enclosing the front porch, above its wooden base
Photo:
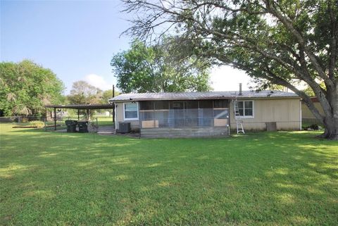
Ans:
[[[227,127],[228,100],[139,101],[140,128]]]

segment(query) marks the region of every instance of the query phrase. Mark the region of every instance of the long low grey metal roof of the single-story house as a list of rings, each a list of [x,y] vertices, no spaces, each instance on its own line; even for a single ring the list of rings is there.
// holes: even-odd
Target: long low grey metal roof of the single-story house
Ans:
[[[297,94],[290,92],[268,91],[261,92],[243,91],[242,95],[238,92],[180,92],[180,93],[131,93],[120,94],[110,102],[121,101],[169,101],[169,100],[200,100],[200,99],[260,99],[260,98],[300,98]]]

